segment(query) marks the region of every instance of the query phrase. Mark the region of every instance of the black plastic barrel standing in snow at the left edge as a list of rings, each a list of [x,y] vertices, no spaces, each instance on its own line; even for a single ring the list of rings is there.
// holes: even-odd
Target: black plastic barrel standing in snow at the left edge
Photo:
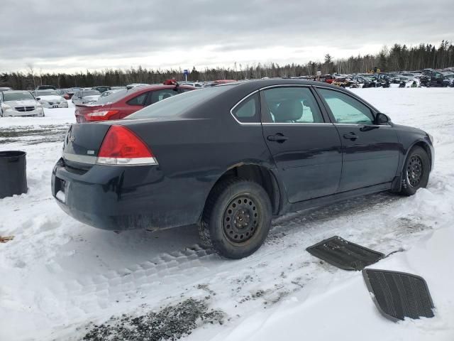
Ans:
[[[27,193],[27,153],[0,151],[0,199]]]

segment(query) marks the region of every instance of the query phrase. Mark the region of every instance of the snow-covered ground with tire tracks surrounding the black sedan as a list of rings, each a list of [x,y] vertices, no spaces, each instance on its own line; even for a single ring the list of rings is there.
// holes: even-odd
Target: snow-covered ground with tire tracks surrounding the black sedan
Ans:
[[[114,234],[72,220],[52,199],[50,173],[74,108],[0,119],[0,150],[28,153],[29,187],[0,200],[0,236],[14,236],[0,244],[0,340],[80,340],[89,323],[150,311],[162,335],[190,332],[187,340],[454,340],[454,90],[354,91],[434,136],[428,188],[279,217],[265,245],[239,261],[200,247],[192,228]],[[423,276],[436,316],[382,318],[359,271],[305,251],[336,234],[384,254],[401,250],[372,267]],[[176,328],[187,310],[192,322]],[[86,340],[102,340],[95,336]]]

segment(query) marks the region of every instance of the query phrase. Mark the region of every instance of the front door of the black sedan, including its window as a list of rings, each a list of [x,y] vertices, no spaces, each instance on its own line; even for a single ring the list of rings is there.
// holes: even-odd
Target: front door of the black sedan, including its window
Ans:
[[[343,145],[339,192],[388,183],[397,174],[399,140],[391,125],[375,124],[365,103],[338,90],[317,87]]]

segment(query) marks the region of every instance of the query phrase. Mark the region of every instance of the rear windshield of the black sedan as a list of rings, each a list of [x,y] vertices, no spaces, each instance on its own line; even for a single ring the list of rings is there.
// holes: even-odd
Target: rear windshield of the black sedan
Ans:
[[[201,90],[177,94],[177,96],[169,97],[155,104],[151,104],[150,106],[129,115],[126,119],[151,119],[153,117],[179,116],[184,112],[187,112],[187,109],[194,107],[194,105],[205,102],[230,89],[231,86],[207,87]]]

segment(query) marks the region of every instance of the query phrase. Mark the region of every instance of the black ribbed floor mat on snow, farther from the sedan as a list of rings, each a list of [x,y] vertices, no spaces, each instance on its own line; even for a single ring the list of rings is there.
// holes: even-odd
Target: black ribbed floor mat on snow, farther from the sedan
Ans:
[[[426,281],[398,271],[362,270],[367,288],[380,313],[393,321],[433,318],[433,302]]]

